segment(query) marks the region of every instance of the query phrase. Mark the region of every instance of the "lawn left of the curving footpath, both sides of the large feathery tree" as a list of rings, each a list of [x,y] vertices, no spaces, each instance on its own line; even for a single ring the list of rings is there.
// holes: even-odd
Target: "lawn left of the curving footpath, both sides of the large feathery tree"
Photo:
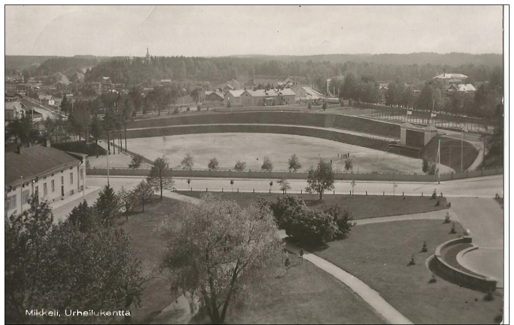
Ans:
[[[141,296],[142,306],[133,311],[136,323],[169,321],[157,317],[174,301],[166,275],[158,272],[157,265],[164,247],[156,230],[160,222],[180,203],[169,198],[145,205],[144,212],[128,216],[122,227],[132,238],[134,255],[143,262],[147,275],[162,276],[145,283]],[[140,207],[136,208],[140,211]],[[277,270],[266,285],[252,285],[251,296],[237,310],[229,309],[231,323],[383,323],[368,304],[350,288],[304,261],[292,259],[287,274]],[[201,318],[200,319],[205,319]]]

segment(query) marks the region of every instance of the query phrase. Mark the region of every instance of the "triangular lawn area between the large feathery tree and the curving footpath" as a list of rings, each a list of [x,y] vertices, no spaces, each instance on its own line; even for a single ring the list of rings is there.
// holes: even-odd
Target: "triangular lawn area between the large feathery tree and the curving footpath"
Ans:
[[[233,324],[383,324],[384,320],[333,276],[310,262],[291,257],[292,265],[228,315]]]

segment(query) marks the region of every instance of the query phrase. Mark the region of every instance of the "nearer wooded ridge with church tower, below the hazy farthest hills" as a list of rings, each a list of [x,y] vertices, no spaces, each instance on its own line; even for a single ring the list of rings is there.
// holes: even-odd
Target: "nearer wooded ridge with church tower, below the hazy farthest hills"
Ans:
[[[491,60],[492,61],[492,60]],[[326,91],[326,78],[355,73],[375,80],[392,80],[399,77],[408,83],[423,82],[446,71],[458,71],[473,81],[489,80],[495,67],[500,65],[469,64],[392,64],[369,61],[300,61],[300,60],[254,60],[252,58],[187,58],[152,57],[151,63],[141,58],[132,62],[128,58],[114,58],[104,61],[86,71],[86,81],[98,81],[109,76],[115,83],[140,84],[150,79],[172,79],[177,81],[225,82],[239,76],[303,76],[306,83],[315,84]]]

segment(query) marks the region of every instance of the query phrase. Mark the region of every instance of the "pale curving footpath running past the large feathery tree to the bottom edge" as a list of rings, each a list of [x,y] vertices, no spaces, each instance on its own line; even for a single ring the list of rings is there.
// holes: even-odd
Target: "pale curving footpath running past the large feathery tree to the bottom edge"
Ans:
[[[173,198],[174,200],[188,202],[192,204],[198,204],[201,201],[198,198],[174,193],[169,190],[162,191],[162,195],[169,198]],[[284,237],[285,233],[281,231],[281,235],[281,237]],[[286,243],[286,249],[293,252],[294,254],[298,254],[298,252],[300,251],[299,247],[291,243]],[[343,282],[346,286],[350,287],[357,295],[359,295],[366,303],[368,303],[375,311],[377,311],[378,314],[380,314],[380,316],[382,316],[388,323],[413,324],[412,321],[410,321],[407,317],[403,316],[391,304],[389,304],[389,302],[383,299],[378,292],[373,290],[369,285],[357,279],[350,273],[345,272],[343,269],[337,267],[336,265],[308,251],[305,251],[303,258],[318,266],[328,274],[331,274],[336,279]],[[168,308],[169,307],[167,307],[167,309]]]

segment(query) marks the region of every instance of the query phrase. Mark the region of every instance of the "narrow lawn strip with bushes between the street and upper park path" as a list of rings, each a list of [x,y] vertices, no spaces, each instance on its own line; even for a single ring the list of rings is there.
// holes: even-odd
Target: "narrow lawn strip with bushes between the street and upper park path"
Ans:
[[[200,197],[205,192],[178,191],[180,194],[193,197]],[[227,200],[235,200],[241,206],[248,206],[256,202],[258,197],[264,197],[268,201],[277,201],[281,194],[277,193],[232,193],[223,192],[221,195]],[[400,193],[401,194],[401,193]],[[431,200],[429,196],[390,196],[390,195],[324,195],[323,200],[319,201],[317,194],[296,194],[303,198],[305,204],[311,208],[325,210],[328,207],[339,204],[344,209],[352,212],[354,220],[377,218],[379,216],[414,214],[428,211],[437,211],[446,208],[446,198],[438,198],[440,205],[435,206],[436,200]]]

